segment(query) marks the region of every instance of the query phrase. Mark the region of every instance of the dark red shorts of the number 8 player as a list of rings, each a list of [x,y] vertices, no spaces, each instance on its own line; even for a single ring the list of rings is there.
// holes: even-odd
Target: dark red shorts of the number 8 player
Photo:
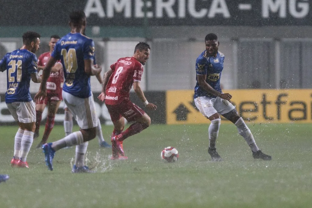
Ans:
[[[145,114],[144,110],[127,99],[117,105],[106,104],[106,107],[113,122],[118,121],[121,117],[127,119],[128,122],[132,122]]]

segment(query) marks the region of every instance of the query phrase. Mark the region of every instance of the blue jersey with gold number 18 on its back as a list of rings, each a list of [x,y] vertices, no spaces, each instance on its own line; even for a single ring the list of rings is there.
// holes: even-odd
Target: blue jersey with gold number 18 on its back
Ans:
[[[79,98],[91,96],[90,76],[85,73],[84,60],[94,60],[94,50],[93,40],[80,33],[68,33],[56,43],[51,56],[61,59],[65,92]]]

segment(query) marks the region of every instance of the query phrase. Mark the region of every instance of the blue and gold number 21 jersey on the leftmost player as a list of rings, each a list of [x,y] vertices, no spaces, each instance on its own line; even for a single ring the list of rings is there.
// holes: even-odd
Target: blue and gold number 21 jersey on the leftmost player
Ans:
[[[1,71],[7,70],[7,92],[5,102],[29,102],[31,74],[37,73],[37,57],[27,49],[7,53],[0,60]]]

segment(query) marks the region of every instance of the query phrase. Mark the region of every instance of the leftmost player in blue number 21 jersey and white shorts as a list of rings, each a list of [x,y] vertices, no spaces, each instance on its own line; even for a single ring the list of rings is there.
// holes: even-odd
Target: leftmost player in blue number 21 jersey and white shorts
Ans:
[[[25,32],[23,46],[7,53],[0,60],[0,70],[7,70],[5,102],[19,126],[14,138],[12,167],[29,167],[26,159],[32,146],[36,122],[35,104],[29,93],[29,85],[30,80],[35,83],[41,82],[35,55],[39,44],[40,35],[37,32]]]

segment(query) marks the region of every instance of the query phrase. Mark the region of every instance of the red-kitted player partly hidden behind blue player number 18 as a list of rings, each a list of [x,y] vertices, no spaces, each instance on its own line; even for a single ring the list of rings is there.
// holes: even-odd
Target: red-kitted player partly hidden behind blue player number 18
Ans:
[[[56,42],[60,39],[58,35],[52,35],[49,46],[50,51],[43,53],[38,58],[38,71],[43,69],[46,63],[48,62]],[[44,130],[42,140],[38,144],[37,148],[41,148],[42,144],[46,143],[48,137],[51,133],[51,130],[54,126],[54,118],[57,112],[57,109],[63,100],[62,98],[62,87],[64,82],[63,75],[63,66],[60,62],[57,62],[51,70],[50,77],[46,82],[47,96],[45,99],[36,101],[36,130],[34,138],[39,136],[39,128],[41,123],[42,112],[45,109],[46,105],[48,106],[48,115],[46,121],[46,128]]]

